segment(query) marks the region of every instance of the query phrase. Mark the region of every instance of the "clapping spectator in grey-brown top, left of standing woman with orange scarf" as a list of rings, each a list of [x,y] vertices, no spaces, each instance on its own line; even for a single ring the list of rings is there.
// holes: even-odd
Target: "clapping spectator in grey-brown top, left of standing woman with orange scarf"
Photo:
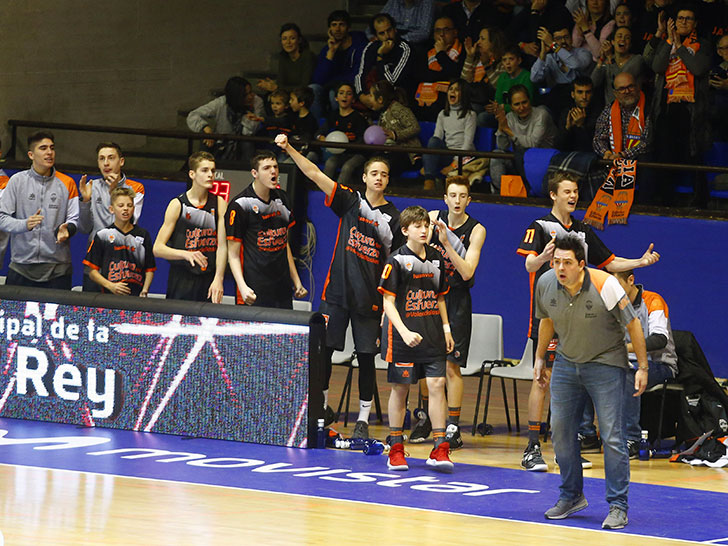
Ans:
[[[602,45],[599,61],[592,72],[592,81],[597,89],[603,88],[604,104],[614,102],[614,78],[620,72],[632,74],[640,87],[646,79],[649,68],[642,55],[632,54],[631,46],[632,31],[627,27],[615,29]]]

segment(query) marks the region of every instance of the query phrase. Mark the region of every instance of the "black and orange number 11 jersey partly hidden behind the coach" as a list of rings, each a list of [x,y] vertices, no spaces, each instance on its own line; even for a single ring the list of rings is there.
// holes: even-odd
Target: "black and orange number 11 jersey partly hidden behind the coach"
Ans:
[[[586,261],[591,265],[602,269],[606,267],[612,260],[614,260],[614,254],[602,240],[594,233],[594,230],[588,224],[585,224],[581,220],[577,220],[573,216],[571,217],[571,225],[564,226],[553,213],[549,212],[543,218],[534,220],[525,235],[521,239],[521,244],[518,246],[518,254],[521,256],[528,256],[532,254],[538,256],[546,248],[546,245],[552,237],[565,237],[565,236],[576,237],[584,245],[586,251]],[[533,295],[536,289],[536,284],[541,275],[551,269],[551,264],[543,264],[538,271],[529,273],[529,282],[531,290],[531,323],[528,328],[528,335],[534,339],[538,338],[538,319],[535,317],[534,312],[534,301]]]

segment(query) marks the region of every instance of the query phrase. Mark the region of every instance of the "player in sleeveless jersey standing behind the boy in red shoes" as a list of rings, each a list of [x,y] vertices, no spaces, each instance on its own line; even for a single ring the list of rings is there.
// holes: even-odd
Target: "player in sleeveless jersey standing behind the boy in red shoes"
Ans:
[[[430,245],[440,251],[445,259],[450,291],[445,296],[447,313],[452,326],[455,349],[447,355],[447,432],[450,449],[463,446],[460,435],[460,408],[463,403],[463,376],[460,368],[468,363],[472,330],[472,300],[475,270],[480,263],[480,251],[485,243],[485,228],[465,212],[470,204],[470,183],[465,176],[450,176],[445,180],[445,204],[447,210],[430,211],[430,221],[437,230]],[[422,397],[427,412],[427,385],[420,381]],[[424,419],[424,422],[423,422]],[[424,441],[431,425],[427,416],[420,414],[419,422],[412,430],[410,442]]]

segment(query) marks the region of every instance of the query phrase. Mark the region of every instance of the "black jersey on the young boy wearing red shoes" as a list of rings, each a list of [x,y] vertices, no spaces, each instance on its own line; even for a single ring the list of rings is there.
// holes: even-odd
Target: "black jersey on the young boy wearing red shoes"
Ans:
[[[445,360],[445,334],[437,298],[447,293],[445,263],[440,253],[425,246],[425,258],[407,245],[387,260],[379,281],[379,292],[394,296],[405,326],[422,336],[416,347],[408,347],[397,329],[384,316],[382,358],[387,362],[427,363]]]

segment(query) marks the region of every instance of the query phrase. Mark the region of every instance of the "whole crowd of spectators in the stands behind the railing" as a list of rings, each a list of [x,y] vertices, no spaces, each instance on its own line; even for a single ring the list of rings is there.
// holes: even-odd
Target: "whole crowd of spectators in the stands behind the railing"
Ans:
[[[586,154],[578,174],[593,185],[605,172],[595,158],[697,164],[713,141],[728,139],[727,33],[725,0],[390,0],[366,32],[351,28],[346,11],[332,12],[318,55],[295,23],[284,24],[275,78],[231,78],[225,96],[192,111],[188,126],[283,132],[293,142],[342,131],[357,143],[514,152],[513,161],[491,160],[483,179],[489,184],[479,188],[486,192],[498,192],[503,175],[526,178],[526,149],[555,148]],[[634,83],[616,87],[623,73]],[[638,124],[617,127],[619,116],[604,114],[613,107]],[[596,134],[602,145],[595,140],[600,114],[608,122],[608,149],[604,134]],[[427,128],[433,122],[434,130]],[[383,142],[365,136],[373,123],[383,125]],[[476,128],[487,135],[477,146]],[[615,133],[622,143],[615,145]],[[251,155],[245,145],[207,144],[218,159]],[[640,153],[630,154],[637,145]],[[389,155],[399,183],[419,180],[426,189],[456,167],[444,155]],[[351,182],[366,156],[310,157]],[[654,178],[640,171],[638,201],[674,204],[674,187],[685,175],[661,174],[659,184]]]

